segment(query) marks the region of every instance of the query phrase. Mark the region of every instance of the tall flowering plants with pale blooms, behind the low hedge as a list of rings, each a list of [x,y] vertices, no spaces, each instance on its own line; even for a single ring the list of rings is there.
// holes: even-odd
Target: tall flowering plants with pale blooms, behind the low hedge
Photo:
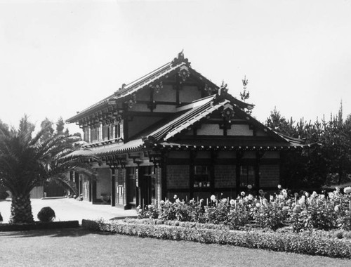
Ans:
[[[206,204],[204,200],[180,201],[175,196],[174,202],[166,200],[138,207],[138,217],[224,224],[231,229],[249,226],[277,230],[291,226],[296,233],[312,229],[351,230],[351,188],[344,191],[345,194],[336,188],[329,194],[310,195],[281,189],[270,197],[265,197],[263,191],[256,197],[242,192],[235,200],[216,200],[212,195]]]

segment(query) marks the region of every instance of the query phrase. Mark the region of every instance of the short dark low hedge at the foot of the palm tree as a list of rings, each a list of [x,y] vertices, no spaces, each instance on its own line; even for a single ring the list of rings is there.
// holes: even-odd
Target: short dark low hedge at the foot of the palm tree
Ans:
[[[49,222],[35,221],[34,223],[2,223],[0,224],[0,232],[76,228],[76,227],[79,227],[79,221],[49,221]]]

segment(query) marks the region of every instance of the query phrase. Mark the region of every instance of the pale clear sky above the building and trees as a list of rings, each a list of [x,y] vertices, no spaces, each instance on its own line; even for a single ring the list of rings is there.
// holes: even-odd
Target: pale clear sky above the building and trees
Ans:
[[[68,119],[182,49],[260,122],[351,114],[350,0],[0,0],[0,119]],[[79,127],[69,124],[72,132]]]

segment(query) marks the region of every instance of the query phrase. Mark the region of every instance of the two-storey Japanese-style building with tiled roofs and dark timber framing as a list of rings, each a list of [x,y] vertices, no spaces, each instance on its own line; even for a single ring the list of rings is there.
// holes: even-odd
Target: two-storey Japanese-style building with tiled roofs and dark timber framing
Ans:
[[[96,155],[97,177],[72,174],[84,200],[131,209],[178,195],[237,197],[273,190],[281,154],[303,141],[282,136],[248,114],[253,105],[217,86],[179,53],[67,119],[84,131],[81,155]]]

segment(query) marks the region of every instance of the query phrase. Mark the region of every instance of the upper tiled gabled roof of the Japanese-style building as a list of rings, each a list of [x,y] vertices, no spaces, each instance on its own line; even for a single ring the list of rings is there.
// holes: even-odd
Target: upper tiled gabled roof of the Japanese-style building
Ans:
[[[98,101],[97,103],[91,105],[90,107],[84,110],[81,110],[81,112],[77,112],[77,115],[70,117],[69,119],[66,120],[66,122],[68,123],[77,122],[79,119],[82,119],[93,112],[97,112],[98,110],[107,108],[110,100],[118,101],[118,100],[123,100],[124,98],[128,98],[128,96],[129,97],[132,96],[133,93],[136,93],[140,89],[145,88],[145,86],[150,86],[153,83],[159,82],[161,79],[164,79],[165,77],[168,77],[178,72],[179,70],[181,70],[181,67],[183,66],[187,67],[190,74],[196,77],[199,77],[199,79],[205,84],[208,84],[208,86],[211,86],[216,90],[219,89],[219,86],[217,86],[216,84],[213,84],[213,82],[211,82],[209,79],[202,76],[199,72],[197,72],[196,70],[192,69],[192,67],[190,67],[190,62],[187,60],[187,58],[184,58],[184,54],[182,51],[178,54],[178,58],[174,58],[171,62],[166,63],[161,67],[158,67],[156,70],[153,70],[152,72],[146,74],[143,77],[140,77],[139,79],[136,79],[135,81],[129,84],[123,84],[121,88],[116,92],[114,92],[112,95],[107,96],[106,98],[103,98],[102,100]],[[253,107],[253,105],[249,105],[240,100],[237,100],[237,103],[238,105],[241,106],[241,108],[250,109]]]

